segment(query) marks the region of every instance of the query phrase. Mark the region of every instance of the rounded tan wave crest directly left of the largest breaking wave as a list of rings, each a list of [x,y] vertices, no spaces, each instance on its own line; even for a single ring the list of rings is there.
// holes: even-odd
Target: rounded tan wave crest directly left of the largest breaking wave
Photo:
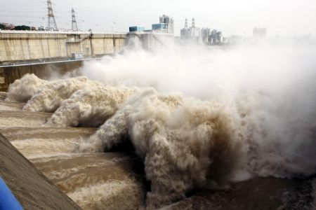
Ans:
[[[69,99],[48,119],[48,127],[98,127],[119,109],[119,106],[136,90],[125,87],[84,87]]]

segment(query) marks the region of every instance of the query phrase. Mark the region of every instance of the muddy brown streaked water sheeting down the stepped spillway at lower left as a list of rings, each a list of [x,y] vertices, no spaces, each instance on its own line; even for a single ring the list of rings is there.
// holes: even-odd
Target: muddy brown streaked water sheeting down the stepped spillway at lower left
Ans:
[[[77,153],[80,141],[96,129],[40,127],[50,116],[51,113],[0,111],[0,132],[81,208],[143,206],[143,175],[134,172],[133,157],[125,153]]]

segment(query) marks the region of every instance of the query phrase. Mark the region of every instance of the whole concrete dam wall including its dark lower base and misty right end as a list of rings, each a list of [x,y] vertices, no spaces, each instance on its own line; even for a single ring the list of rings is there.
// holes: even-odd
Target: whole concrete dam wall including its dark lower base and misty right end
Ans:
[[[63,74],[85,61],[120,53],[135,37],[150,51],[173,44],[169,34],[0,30],[0,90],[25,73],[47,78],[52,72]]]

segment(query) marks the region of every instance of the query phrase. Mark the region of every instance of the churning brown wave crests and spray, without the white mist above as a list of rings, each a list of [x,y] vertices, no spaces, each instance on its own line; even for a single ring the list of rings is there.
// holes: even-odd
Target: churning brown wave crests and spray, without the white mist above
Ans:
[[[251,176],[316,172],[316,104],[306,98],[309,93],[253,89],[229,100],[201,100],[135,83],[110,84],[85,76],[48,82],[27,74],[11,85],[7,100],[27,102],[25,111],[54,112],[44,126],[98,127],[74,153],[108,151],[131,141],[151,182],[148,209],[176,202],[194,188],[223,188]],[[315,93],[315,85],[308,87]],[[293,100],[277,107],[284,98]],[[294,113],[302,106],[295,99],[305,99],[305,111]]]

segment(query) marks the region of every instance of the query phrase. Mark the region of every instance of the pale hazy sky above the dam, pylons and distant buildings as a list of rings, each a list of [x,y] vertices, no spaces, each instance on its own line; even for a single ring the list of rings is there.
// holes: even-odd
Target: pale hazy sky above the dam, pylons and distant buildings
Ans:
[[[0,22],[15,25],[47,25],[44,0],[0,0]],[[198,27],[251,36],[254,27],[267,27],[268,36],[316,34],[316,0],[51,0],[58,27],[71,27],[71,8],[79,29],[127,31],[131,25],[150,29],[159,15],[175,20],[176,35],[195,18]],[[45,20],[43,20],[45,18]],[[83,22],[84,20],[84,22]]]

